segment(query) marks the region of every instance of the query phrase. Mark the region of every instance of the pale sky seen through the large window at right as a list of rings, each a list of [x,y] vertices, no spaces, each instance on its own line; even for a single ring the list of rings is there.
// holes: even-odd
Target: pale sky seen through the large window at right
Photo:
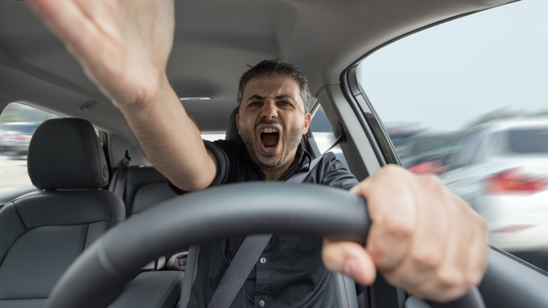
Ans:
[[[385,122],[458,130],[489,111],[548,111],[548,1],[432,27],[365,58],[358,79]]]

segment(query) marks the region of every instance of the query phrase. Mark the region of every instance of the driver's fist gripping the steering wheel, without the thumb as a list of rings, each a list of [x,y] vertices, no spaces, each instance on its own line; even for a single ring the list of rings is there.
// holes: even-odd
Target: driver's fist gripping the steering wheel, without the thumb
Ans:
[[[437,302],[479,284],[487,225],[439,179],[389,165],[351,192],[367,199],[366,251],[388,282]]]

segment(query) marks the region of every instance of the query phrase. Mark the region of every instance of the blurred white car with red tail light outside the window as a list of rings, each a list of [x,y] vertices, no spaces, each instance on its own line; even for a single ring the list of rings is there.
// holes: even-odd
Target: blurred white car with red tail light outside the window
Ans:
[[[548,119],[472,130],[452,155],[451,169],[443,180],[487,220],[491,245],[548,252]]]

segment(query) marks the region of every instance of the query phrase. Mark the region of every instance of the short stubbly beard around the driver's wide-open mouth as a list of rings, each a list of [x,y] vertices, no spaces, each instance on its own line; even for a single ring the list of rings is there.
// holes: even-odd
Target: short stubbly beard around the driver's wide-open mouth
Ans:
[[[255,163],[259,165],[259,167],[272,169],[272,170],[278,169],[283,165],[289,153],[299,145],[300,138],[303,136],[304,125],[302,128],[294,128],[292,130],[288,130],[287,136],[285,135],[280,136],[280,140],[278,141],[278,143],[285,144],[286,146],[285,152],[283,153],[280,160],[278,160],[277,162],[266,163],[265,161],[260,160],[260,157],[259,157],[260,155],[257,154],[260,148],[260,145],[258,144],[260,143],[260,138],[256,138],[255,131],[257,130],[257,126],[260,124],[281,125],[281,123],[278,122],[277,120],[270,120],[270,121],[262,120],[255,125],[255,128],[253,128],[253,130],[240,128],[240,135],[242,136],[243,143],[245,144],[245,148],[248,149],[248,153],[250,154],[251,158],[253,158],[253,160],[255,161]],[[282,125],[282,128],[283,128],[283,125]],[[273,156],[274,155],[268,155],[265,157],[271,158]]]

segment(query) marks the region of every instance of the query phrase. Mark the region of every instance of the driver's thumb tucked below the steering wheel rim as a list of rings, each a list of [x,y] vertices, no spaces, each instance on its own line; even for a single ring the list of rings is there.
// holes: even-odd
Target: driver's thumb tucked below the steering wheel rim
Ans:
[[[375,280],[375,265],[355,242],[324,240],[322,260],[328,270],[346,274],[359,284],[369,285]]]

